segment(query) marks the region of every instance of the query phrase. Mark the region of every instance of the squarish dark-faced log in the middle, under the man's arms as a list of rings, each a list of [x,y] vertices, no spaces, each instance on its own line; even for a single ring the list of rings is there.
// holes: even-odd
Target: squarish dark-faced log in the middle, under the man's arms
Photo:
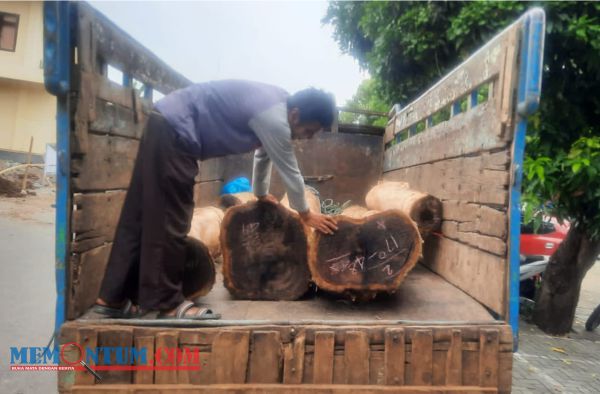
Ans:
[[[221,227],[225,287],[237,298],[295,300],[309,287],[306,229],[281,204],[229,208]]]

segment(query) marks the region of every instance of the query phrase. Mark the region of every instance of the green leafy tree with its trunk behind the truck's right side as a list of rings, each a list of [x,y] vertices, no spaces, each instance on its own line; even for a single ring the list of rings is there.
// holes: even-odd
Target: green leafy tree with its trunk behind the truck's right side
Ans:
[[[581,281],[600,253],[600,3],[332,2],[324,22],[358,59],[377,99],[407,104],[528,8],[547,15],[540,111],[527,137],[525,219],[569,220],[534,321],[571,328]]]

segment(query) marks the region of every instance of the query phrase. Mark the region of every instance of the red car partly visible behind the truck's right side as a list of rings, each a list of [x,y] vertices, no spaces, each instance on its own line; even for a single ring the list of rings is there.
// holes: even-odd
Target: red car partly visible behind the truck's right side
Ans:
[[[533,224],[521,225],[521,254],[524,256],[550,256],[565,239],[569,224],[560,224],[555,218],[543,221],[537,234]]]

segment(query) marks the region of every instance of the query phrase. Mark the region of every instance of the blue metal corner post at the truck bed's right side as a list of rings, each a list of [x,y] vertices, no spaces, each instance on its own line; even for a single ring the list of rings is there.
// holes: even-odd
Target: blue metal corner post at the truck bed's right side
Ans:
[[[534,8],[523,16],[521,64],[517,113],[519,115],[513,141],[513,184],[510,188],[510,279],[508,321],[513,331],[515,351],[519,339],[519,250],[521,239],[521,180],[527,117],[538,106],[542,86],[542,64],[544,53],[545,14]]]

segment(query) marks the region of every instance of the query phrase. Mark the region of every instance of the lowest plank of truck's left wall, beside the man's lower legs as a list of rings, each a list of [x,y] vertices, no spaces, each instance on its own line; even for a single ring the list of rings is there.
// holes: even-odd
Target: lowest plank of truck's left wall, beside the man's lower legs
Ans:
[[[71,256],[69,319],[81,316],[96,301],[111,247],[106,244]]]

